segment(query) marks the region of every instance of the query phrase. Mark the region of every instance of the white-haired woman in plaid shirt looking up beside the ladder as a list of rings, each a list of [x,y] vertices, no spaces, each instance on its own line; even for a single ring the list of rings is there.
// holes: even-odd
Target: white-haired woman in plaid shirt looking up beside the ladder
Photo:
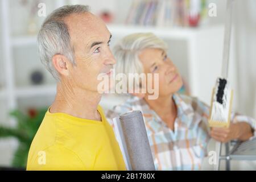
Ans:
[[[255,120],[232,114],[229,129],[208,126],[209,106],[195,97],[177,94],[183,85],[179,71],[167,56],[166,44],[151,33],[126,36],[114,47],[116,73],[158,73],[159,96],[133,94],[124,104],[106,114],[108,121],[129,110],[141,110],[146,125],[155,168],[158,170],[198,170],[207,155],[212,137],[217,141],[248,140],[256,133]],[[148,83],[147,83],[148,84]],[[113,126],[113,124],[112,124]]]

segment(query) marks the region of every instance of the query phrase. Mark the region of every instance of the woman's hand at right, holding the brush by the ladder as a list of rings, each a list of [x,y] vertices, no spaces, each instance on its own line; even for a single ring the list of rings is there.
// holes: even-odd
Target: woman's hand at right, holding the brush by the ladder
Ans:
[[[229,142],[233,139],[247,140],[253,136],[251,126],[246,122],[230,123],[229,128],[212,127],[210,136],[218,142]]]

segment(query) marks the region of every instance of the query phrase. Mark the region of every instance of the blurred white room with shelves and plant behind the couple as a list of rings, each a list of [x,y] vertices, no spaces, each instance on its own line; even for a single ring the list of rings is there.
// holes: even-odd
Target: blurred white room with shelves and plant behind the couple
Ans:
[[[55,80],[39,61],[36,35],[44,13],[71,4],[89,5],[92,13],[104,19],[113,34],[110,47],[133,32],[153,32],[165,40],[168,56],[183,76],[180,93],[210,104],[212,88],[221,75],[225,0],[0,0],[0,167],[26,167],[32,138],[56,93]],[[233,110],[253,118],[255,9],[253,0],[234,3],[229,65]],[[125,96],[108,94],[101,105],[111,109],[125,100]],[[214,150],[213,145],[209,147]],[[235,163],[232,169],[256,169],[253,162]],[[212,166],[205,162],[203,169]]]

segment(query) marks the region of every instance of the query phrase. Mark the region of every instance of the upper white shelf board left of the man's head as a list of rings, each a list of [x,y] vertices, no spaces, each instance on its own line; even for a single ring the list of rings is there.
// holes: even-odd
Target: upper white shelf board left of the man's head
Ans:
[[[16,36],[11,39],[11,45],[14,47],[18,46],[27,46],[27,45],[34,45],[36,44],[36,36]]]

